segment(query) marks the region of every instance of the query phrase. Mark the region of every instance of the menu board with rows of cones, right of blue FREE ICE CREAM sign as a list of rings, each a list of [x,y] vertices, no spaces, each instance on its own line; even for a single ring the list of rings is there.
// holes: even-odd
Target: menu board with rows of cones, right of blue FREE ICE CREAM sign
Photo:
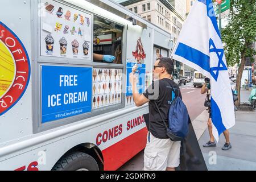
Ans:
[[[122,69],[93,69],[93,109],[120,104]]]

